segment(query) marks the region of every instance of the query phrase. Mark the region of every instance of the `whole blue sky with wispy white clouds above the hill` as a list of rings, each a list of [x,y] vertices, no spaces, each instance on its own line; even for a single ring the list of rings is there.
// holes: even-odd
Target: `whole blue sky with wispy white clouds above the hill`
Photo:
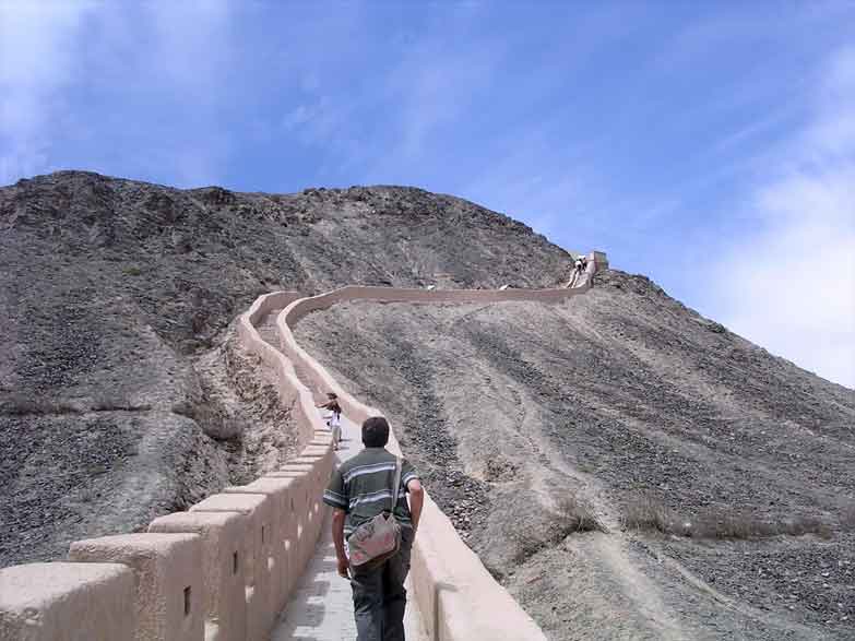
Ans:
[[[855,2],[0,0],[0,182],[415,185],[855,385]]]

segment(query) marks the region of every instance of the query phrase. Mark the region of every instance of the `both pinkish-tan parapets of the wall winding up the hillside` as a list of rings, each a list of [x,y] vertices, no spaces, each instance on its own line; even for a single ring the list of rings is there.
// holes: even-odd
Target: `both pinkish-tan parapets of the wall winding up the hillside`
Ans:
[[[299,456],[189,511],[155,519],[146,533],[76,541],[69,560],[0,569],[0,641],[262,641],[311,557],[324,522],[320,496],[333,467],[314,396],[335,391],[360,423],[382,414],[343,390],[294,339],[307,313],[345,300],[380,302],[559,302],[584,293],[605,254],[589,258],[572,288],[426,290],[348,286],[300,298],[259,297],[238,321],[244,345],[277,380],[298,429]],[[284,309],[283,309],[284,308]],[[281,349],[256,325],[272,310]],[[390,449],[400,453],[394,436]],[[544,639],[427,497],[413,551],[416,604],[435,640]]]

